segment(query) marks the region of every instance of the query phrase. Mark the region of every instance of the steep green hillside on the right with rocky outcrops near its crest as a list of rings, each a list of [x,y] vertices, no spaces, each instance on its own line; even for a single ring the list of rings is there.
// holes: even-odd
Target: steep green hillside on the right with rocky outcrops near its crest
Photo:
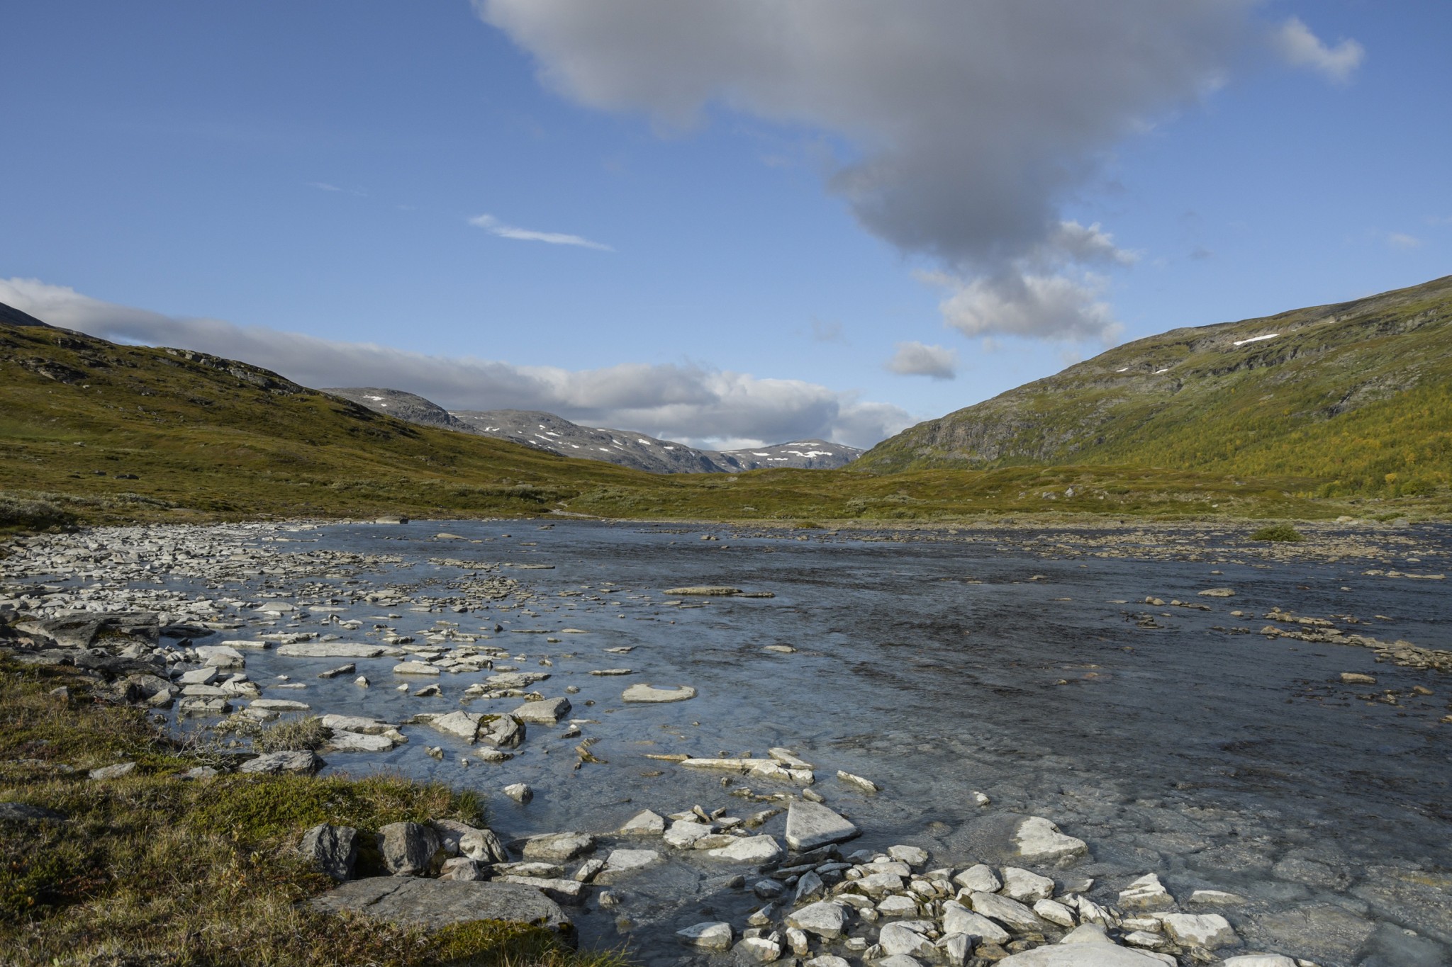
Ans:
[[[1140,339],[913,426],[855,465],[1061,462],[1295,476],[1323,496],[1446,487],[1452,277]]]

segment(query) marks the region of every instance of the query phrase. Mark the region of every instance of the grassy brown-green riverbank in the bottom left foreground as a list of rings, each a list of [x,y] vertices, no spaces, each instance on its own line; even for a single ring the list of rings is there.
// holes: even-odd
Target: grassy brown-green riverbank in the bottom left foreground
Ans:
[[[13,641],[13,639],[12,639]],[[3,645],[4,641],[0,641]],[[116,705],[99,668],[0,660],[0,948],[6,964],[607,967],[550,931],[428,931],[328,916],[311,826],[482,821],[472,793],[399,776],[267,776]],[[122,692],[125,687],[122,687]],[[110,696],[110,697],[107,697]],[[277,736],[277,748],[296,745]],[[364,851],[363,863],[379,863]]]

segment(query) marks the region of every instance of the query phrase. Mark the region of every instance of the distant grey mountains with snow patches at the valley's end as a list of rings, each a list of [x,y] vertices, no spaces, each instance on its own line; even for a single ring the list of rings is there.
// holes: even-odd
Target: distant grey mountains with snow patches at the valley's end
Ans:
[[[852,447],[820,439],[749,449],[697,449],[687,444],[656,439],[629,429],[581,426],[542,410],[450,412],[414,393],[379,387],[330,389],[324,393],[341,396],[370,410],[388,413],[411,423],[495,436],[552,454],[603,460],[653,474],[729,474],[771,467],[835,470],[852,462],[862,452]]]

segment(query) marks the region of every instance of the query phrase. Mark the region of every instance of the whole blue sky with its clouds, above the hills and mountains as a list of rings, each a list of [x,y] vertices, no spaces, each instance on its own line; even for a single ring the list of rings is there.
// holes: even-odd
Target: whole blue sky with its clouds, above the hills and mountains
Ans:
[[[12,4],[0,300],[314,386],[865,445],[1449,271],[1452,4],[833,3]]]

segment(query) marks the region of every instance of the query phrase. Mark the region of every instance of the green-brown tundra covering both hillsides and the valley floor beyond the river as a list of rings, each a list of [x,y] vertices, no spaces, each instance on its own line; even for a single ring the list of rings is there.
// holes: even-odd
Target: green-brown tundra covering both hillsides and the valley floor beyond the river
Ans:
[[[925,423],[845,470],[742,474],[648,474],[562,458],[407,423],[231,360],[0,323],[0,528],[552,512],[833,526],[1024,513],[1439,516],[1452,506],[1452,431],[1445,418],[1452,373],[1440,348],[1452,304],[1448,290],[1452,283],[1420,302],[1408,296],[1362,313],[1365,325],[1387,329],[1375,339],[1350,339],[1342,323],[1323,319],[1329,310],[1301,310],[1321,312],[1314,316],[1321,323],[1297,331],[1298,342],[1252,342],[1231,346],[1230,355],[1218,342],[1201,348],[1201,355],[1179,362],[1180,387],[1173,393],[1143,386],[1121,391],[1093,380],[1082,391],[1053,380],[1015,390],[1029,393],[1015,403],[1019,436],[1054,441],[1093,431],[1093,439],[1104,438],[1099,444],[1025,449],[1013,436],[996,458],[979,460],[922,444]],[[1144,344],[1194,348],[1204,338],[1224,342],[1270,325],[1289,329],[1295,319],[1228,325],[1233,331],[1211,336],[1176,331],[1090,362],[1108,368],[1115,354],[1130,354],[1149,360],[1140,360],[1141,368],[1157,367],[1172,360]],[[1307,341],[1320,342],[1302,345]],[[1285,358],[1269,365],[1266,354],[1276,352]],[[1368,354],[1378,352],[1385,357],[1379,381],[1358,375],[1346,390],[1347,374],[1363,373]],[[1208,373],[1230,357],[1239,368],[1228,377],[1211,373],[1195,389],[1191,371]],[[1079,380],[1074,374],[1086,365],[1054,380]],[[1111,375],[1111,383],[1122,381],[1122,374]],[[1144,377],[1154,386],[1166,378]],[[1355,399],[1327,416],[1334,387]],[[1069,413],[1089,412],[1112,419],[1088,429],[1059,425]],[[960,416],[932,423],[957,426]]]

